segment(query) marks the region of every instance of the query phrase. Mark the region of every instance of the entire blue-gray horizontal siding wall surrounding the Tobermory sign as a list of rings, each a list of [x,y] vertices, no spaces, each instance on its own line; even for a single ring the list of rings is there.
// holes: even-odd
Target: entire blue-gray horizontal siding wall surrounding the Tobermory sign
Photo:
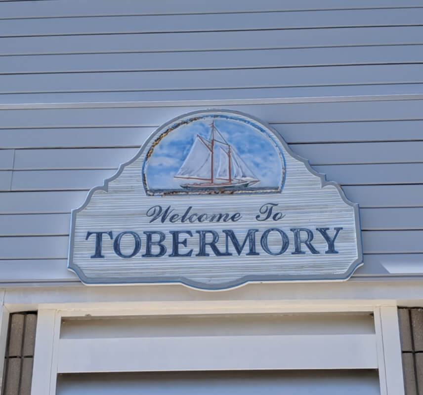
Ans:
[[[360,204],[356,277],[423,274],[422,21],[422,0],[0,1],[1,280],[77,281],[70,210],[210,107],[269,122]]]

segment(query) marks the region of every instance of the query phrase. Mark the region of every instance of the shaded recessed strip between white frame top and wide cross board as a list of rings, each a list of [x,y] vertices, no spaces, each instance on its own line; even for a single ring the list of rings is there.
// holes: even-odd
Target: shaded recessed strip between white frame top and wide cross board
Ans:
[[[76,313],[76,312],[74,312]],[[84,315],[82,311],[79,312]],[[62,313],[61,313],[62,314]],[[67,312],[63,312],[67,315]],[[114,313],[113,313],[114,314]],[[61,339],[375,334],[369,312],[63,318]],[[107,314],[106,314],[107,315]]]

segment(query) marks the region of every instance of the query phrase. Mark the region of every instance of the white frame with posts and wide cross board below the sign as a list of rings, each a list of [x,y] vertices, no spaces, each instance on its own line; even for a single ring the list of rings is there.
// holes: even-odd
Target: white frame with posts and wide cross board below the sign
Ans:
[[[232,303],[216,301],[214,308],[195,301],[174,304],[174,314],[220,312],[252,313],[254,301]],[[169,302],[168,302],[169,304]],[[279,304],[279,309],[276,309]],[[220,305],[220,307],[219,307]],[[248,309],[250,305],[250,309]],[[73,308],[71,308],[73,306]],[[138,309],[96,310],[85,304],[76,310],[75,304],[43,309],[40,306],[34,361],[33,394],[55,394],[56,373],[109,371],[169,371],[225,369],[375,369],[380,371],[381,395],[403,395],[400,339],[396,305],[365,306],[360,303],[317,306],[274,301],[266,312],[290,313],[373,312],[375,334],[339,335],[255,335],[255,336],[182,336],[60,339],[60,322],[65,316],[145,315],[144,304]],[[60,310],[65,307],[68,310]],[[80,306],[81,307],[81,306]],[[196,308],[195,308],[196,307]],[[171,310],[171,309],[170,309]],[[150,314],[169,315],[170,310],[153,307]],[[263,313],[263,310],[260,310]],[[254,319],[254,316],[252,316]],[[201,351],[201,352],[200,352]],[[95,356],[95,357],[93,357]],[[112,357],[111,357],[112,356]],[[212,357],[210,357],[212,356]],[[239,357],[241,356],[241,357]]]

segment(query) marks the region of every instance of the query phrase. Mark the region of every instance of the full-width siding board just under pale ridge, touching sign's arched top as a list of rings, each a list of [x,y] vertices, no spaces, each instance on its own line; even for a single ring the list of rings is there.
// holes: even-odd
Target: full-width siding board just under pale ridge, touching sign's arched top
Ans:
[[[177,102],[169,105],[159,103],[138,104],[133,107],[123,103],[124,108],[116,104],[105,104],[106,108],[95,108],[96,105],[77,104],[85,108],[44,109],[13,109],[1,110],[2,127],[23,128],[23,127],[91,127],[91,126],[151,126],[167,122],[185,112],[201,110],[204,107],[219,108],[242,111],[252,114],[255,117],[265,119],[268,123],[276,122],[321,122],[321,121],[349,121],[349,120],[406,120],[422,118],[422,100],[395,100],[389,98],[387,101],[375,100],[319,102],[312,99],[308,103],[297,103],[298,99],[289,99],[287,103],[266,105],[245,104],[240,101],[238,105],[234,102],[190,102],[190,105],[178,106]],[[352,100],[352,101],[351,101]],[[254,100],[255,101],[255,100]],[[293,102],[294,101],[294,102]],[[248,102],[247,102],[248,103]],[[55,105],[53,105],[55,106]],[[57,105],[56,105],[57,106]],[[59,105],[60,106],[60,105]],[[40,108],[40,107],[39,107]]]

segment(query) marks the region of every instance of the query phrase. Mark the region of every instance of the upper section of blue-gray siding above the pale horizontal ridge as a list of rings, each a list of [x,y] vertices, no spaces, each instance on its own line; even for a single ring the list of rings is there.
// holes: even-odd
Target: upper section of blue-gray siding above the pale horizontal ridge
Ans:
[[[107,6],[94,1],[80,16],[78,6],[68,9],[63,0],[62,8],[49,1],[29,9],[18,3],[1,4],[0,103],[403,94],[423,88],[419,2],[316,7],[270,1],[258,9],[189,2],[173,11],[170,4],[148,5],[144,12],[126,4],[127,13],[110,2],[109,12],[117,14],[107,14]]]

